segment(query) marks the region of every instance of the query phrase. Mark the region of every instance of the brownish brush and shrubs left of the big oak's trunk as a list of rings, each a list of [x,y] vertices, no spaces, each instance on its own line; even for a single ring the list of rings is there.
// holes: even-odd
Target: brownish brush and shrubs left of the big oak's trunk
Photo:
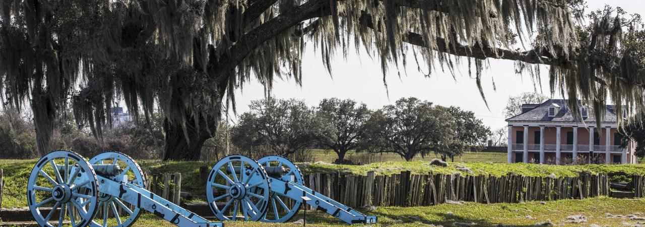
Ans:
[[[86,124],[77,124],[72,112],[55,119],[59,127],[52,134],[53,150],[72,150],[93,157],[108,150],[123,152],[136,159],[159,159],[163,152],[164,134],[161,115],[149,121],[128,121],[104,128],[103,138],[97,140]],[[34,159],[37,152],[33,115],[5,106],[0,112],[0,159]]]

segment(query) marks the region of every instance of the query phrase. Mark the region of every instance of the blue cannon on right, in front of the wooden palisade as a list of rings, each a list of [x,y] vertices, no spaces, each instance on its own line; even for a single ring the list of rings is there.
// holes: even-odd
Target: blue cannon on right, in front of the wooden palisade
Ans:
[[[348,224],[377,221],[376,216],[364,215],[305,187],[298,166],[273,155],[257,161],[244,155],[224,157],[208,175],[206,197],[221,221],[286,222],[303,202]]]

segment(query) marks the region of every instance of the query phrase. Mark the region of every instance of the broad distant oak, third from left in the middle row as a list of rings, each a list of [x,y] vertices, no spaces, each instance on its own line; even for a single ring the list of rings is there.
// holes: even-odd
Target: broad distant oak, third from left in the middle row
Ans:
[[[454,128],[455,119],[447,108],[414,97],[401,98],[372,114],[361,150],[397,153],[410,161],[417,155],[452,151]]]

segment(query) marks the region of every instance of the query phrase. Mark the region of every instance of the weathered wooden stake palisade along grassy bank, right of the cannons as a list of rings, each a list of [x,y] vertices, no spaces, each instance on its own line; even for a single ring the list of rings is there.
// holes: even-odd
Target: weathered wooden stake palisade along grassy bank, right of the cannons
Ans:
[[[642,197],[644,179],[639,177],[639,182],[640,194],[637,195]],[[373,172],[367,176],[315,173],[305,175],[304,183],[312,190],[352,207],[427,206],[447,201],[550,201],[583,199],[609,195],[610,192],[606,174],[586,173],[578,177],[496,177],[460,173],[416,175],[410,172],[389,176],[375,175]]]

